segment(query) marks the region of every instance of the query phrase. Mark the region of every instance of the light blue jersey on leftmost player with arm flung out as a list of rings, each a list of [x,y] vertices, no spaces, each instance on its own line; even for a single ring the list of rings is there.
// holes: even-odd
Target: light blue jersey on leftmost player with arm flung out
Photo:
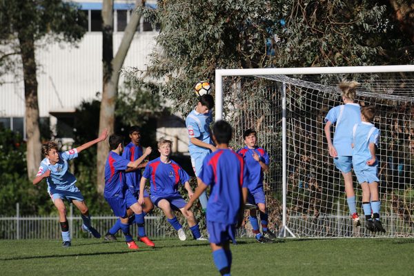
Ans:
[[[65,190],[70,192],[79,191],[75,186],[75,175],[72,175],[68,171],[68,160],[74,159],[77,156],[77,150],[74,148],[65,152],[59,152],[59,161],[55,165],[50,164],[48,158],[41,161],[37,176],[43,175],[47,170],[50,170],[50,176],[46,179],[50,195],[54,194],[55,190]]]

